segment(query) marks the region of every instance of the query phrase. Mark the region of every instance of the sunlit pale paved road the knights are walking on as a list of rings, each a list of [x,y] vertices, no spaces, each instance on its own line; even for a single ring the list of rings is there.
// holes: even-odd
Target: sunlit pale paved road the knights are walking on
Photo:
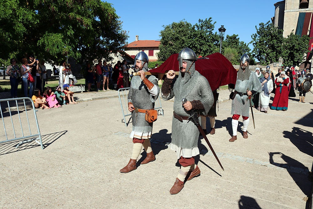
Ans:
[[[76,95],[80,101],[91,94],[108,97],[37,112],[44,150],[35,142],[18,149],[13,147],[17,142],[0,144],[0,208],[308,206],[304,198],[311,190],[307,176],[313,160],[313,95],[307,93],[306,103],[291,98],[285,112],[254,109],[256,129],[250,121],[249,138],[242,138],[238,128],[238,140],[230,143],[231,102],[227,90],[220,93],[224,102],[219,103],[216,133],[208,138],[225,171],[200,138],[201,175],[179,194],[169,194],[179,167],[176,154],[167,148],[173,103],[162,101],[164,117],[154,124],[151,139],[156,161],[121,174],[132,142],[131,124],[126,128],[121,123],[119,100],[112,97],[117,92],[83,93]]]

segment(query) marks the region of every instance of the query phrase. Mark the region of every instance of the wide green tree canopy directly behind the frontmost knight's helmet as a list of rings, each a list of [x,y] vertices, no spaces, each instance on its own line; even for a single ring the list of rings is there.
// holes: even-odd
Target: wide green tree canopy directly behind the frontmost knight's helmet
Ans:
[[[213,33],[215,23],[212,23],[212,18],[208,18],[199,19],[195,25],[183,20],[163,25],[164,30],[160,32],[159,60],[165,61],[170,55],[179,53],[185,47],[192,49],[197,56],[218,52],[219,36],[217,32]]]

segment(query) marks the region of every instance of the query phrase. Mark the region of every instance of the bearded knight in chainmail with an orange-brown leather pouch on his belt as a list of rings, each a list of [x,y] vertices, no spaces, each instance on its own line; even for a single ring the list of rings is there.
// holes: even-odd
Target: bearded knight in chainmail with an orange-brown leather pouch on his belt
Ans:
[[[139,52],[135,57],[134,68],[140,76],[131,79],[131,86],[128,93],[128,110],[131,112],[132,132],[130,138],[133,140],[133,151],[128,164],[120,170],[121,173],[128,173],[136,170],[136,162],[142,147],[144,147],[147,157],[141,162],[146,164],[156,158],[151,149],[150,138],[152,135],[153,123],[148,123],[145,119],[146,110],[154,109],[154,103],[159,97],[160,87],[155,76],[146,76],[148,71],[148,56],[145,52]],[[138,111],[134,111],[136,110]]]

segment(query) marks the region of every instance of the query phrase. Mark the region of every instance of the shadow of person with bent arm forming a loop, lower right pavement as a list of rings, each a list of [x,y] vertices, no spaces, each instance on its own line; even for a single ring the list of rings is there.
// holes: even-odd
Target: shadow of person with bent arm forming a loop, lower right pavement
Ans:
[[[275,163],[273,160],[274,155],[280,155],[280,158],[283,159],[286,163]],[[301,191],[306,196],[309,196],[311,190],[311,182],[308,179],[309,170],[307,167],[305,167],[305,165],[281,152],[270,152],[269,163],[278,167],[285,168],[294,180],[294,182],[299,186]],[[307,204],[308,203],[309,201],[307,201]]]

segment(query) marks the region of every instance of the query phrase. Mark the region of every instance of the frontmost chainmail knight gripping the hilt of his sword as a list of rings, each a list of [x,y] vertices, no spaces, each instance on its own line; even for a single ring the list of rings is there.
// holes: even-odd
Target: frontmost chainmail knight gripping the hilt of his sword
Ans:
[[[161,95],[164,100],[174,96],[172,118],[172,141],[169,147],[176,151],[181,169],[170,194],[177,194],[184,187],[186,180],[200,175],[198,165],[195,165],[194,156],[199,154],[197,126],[189,119],[194,113],[208,115],[213,105],[214,98],[208,80],[195,70],[197,56],[189,48],[184,48],[178,55],[179,75],[175,77],[174,71],[170,70],[164,80]],[[186,98],[187,102],[182,103]]]

